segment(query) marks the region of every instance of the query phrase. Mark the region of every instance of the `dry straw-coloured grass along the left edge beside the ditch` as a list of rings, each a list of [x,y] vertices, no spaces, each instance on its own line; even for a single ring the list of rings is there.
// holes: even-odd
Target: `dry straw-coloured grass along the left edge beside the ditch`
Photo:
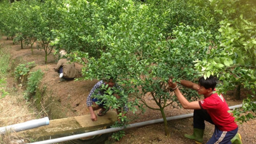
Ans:
[[[8,91],[5,97],[0,99],[0,127],[23,123],[38,116],[24,100],[23,90],[13,81],[9,67],[10,56],[8,48],[0,44],[0,96],[3,91]],[[17,144],[19,139],[22,138],[17,133],[6,132],[0,135],[0,144]]]

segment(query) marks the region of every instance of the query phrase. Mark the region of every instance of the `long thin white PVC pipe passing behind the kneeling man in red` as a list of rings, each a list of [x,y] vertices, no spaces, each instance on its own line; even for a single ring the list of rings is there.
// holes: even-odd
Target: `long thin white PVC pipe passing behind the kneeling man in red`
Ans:
[[[256,102],[254,102],[254,103],[256,103]],[[239,108],[239,107],[242,107],[242,104],[230,106],[229,109],[231,110],[231,109],[236,109],[236,108]],[[194,115],[193,113],[190,113],[190,114],[178,115],[178,116],[173,116],[173,117],[167,117],[166,119],[167,119],[167,121],[176,120],[176,119],[193,117],[193,115]],[[87,132],[87,133],[82,133],[82,134],[76,134],[76,135],[70,135],[70,136],[66,136],[66,137],[62,137],[62,138],[45,140],[45,141],[40,141],[40,142],[27,143],[27,144],[54,144],[54,143],[60,143],[60,142],[75,140],[75,139],[81,139],[81,138],[84,138],[84,137],[87,137],[87,136],[94,136],[94,135],[119,131],[119,130],[123,130],[123,129],[141,127],[141,126],[157,124],[157,123],[162,123],[162,122],[163,122],[163,119],[155,119],[155,120],[144,121],[144,122],[141,122],[141,123],[135,123],[135,124],[127,125],[126,127],[118,127],[118,128],[109,128],[109,129],[97,130],[97,131],[92,131],[92,132]]]

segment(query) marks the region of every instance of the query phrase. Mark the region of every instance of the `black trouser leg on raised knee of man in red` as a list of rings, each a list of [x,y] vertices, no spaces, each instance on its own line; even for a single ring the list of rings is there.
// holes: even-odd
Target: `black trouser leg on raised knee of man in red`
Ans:
[[[193,117],[194,128],[204,129],[205,128],[204,120],[214,125],[210,115],[206,110],[203,110],[203,109],[194,110],[194,117]]]

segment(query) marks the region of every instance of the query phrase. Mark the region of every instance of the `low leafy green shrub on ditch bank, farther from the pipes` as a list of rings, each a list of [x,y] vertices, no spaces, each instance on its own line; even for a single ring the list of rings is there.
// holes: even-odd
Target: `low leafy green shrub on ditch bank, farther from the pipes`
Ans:
[[[19,64],[15,68],[15,78],[19,83],[24,83],[27,80],[27,75],[31,68],[35,67],[35,62],[28,62],[27,64]]]

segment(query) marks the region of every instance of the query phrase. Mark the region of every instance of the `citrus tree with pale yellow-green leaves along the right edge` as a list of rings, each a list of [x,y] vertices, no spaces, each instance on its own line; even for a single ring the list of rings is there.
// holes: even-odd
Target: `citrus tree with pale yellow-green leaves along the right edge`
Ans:
[[[196,67],[205,77],[215,74],[222,81],[220,92],[237,87],[246,88],[251,94],[244,100],[243,109],[234,111],[237,120],[254,118],[256,104],[253,103],[256,86],[256,5],[252,0],[212,0],[216,13],[222,18],[221,32],[216,47]],[[247,113],[251,111],[252,113]],[[241,113],[247,113],[241,116]]]

